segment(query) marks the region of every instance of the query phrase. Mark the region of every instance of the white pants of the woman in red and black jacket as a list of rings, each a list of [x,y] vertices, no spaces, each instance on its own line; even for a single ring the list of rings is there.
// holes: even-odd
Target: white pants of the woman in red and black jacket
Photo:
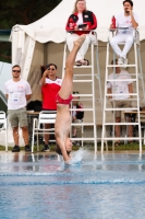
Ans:
[[[78,60],[82,60],[84,59],[84,56],[88,49],[88,46],[92,42],[92,34],[86,34],[86,39],[84,41],[83,45],[81,46],[77,55],[76,55],[76,58],[75,58],[75,61],[78,61]],[[69,50],[71,51],[72,48],[73,48],[73,42],[76,41],[80,36],[77,34],[70,34],[68,33],[67,35],[67,44],[68,44],[68,47],[69,47]]]

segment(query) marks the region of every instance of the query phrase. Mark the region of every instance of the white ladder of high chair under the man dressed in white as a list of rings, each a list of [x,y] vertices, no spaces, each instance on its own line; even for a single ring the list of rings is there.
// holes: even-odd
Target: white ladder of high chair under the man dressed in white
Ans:
[[[105,141],[107,140],[112,140],[112,150],[114,150],[114,140],[124,140],[124,137],[114,137],[114,126],[116,125],[120,125],[120,126],[128,126],[129,125],[133,125],[133,126],[137,126],[138,128],[138,137],[128,137],[128,134],[126,134],[126,137],[125,139],[126,140],[138,140],[138,143],[140,143],[140,153],[142,153],[142,137],[141,137],[141,120],[140,120],[140,116],[138,116],[138,119],[134,123],[116,123],[114,122],[114,112],[116,111],[124,111],[124,112],[131,112],[131,111],[135,111],[137,115],[140,115],[140,95],[138,95],[138,79],[141,79],[141,82],[142,82],[142,89],[143,89],[143,100],[145,100],[145,89],[144,89],[144,80],[143,80],[143,70],[142,70],[142,61],[141,61],[141,54],[140,54],[140,43],[136,42],[135,39],[135,36],[136,36],[136,32],[137,31],[134,31],[134,43],[133,43],[133,50],[134,50],[134,62],[135,64],[130,64],[130,65],[114,65],[114,59],[116,59],[116,55],[114,55],[114,51],[113,51],[113,65],[110,65],[109,64],[109,48],[110,48],[110,42],[108,39],[108,43],[107,43],[107,58],[106,58],[106,78],[105,78],[105,97],[104,97],[104,111],[102,111],[102,135],[101,135],[101,153],[104,152],[104,147],[105,147]],[[124,45],[124,43],[121,43],[119,45]],[[109,80],[108,79],[108,74],[109,74],[109,69],[110,68],[113,68],[113,74],[116,73],[114,72],[114,67],[130,67],[130,68],[134,68],[135,70],[135,73],[130,73],[130,76],[134,77],[132,79],[124,79],[124,80],[118,80],[116,79],[116,77],[112,79],[112,80]],[[140,68],[140,72],[138,72],[138,68]],[[113,85],[112,85],[112,90],[114,89],[114,85],[116,85],[116,81],[132,81],[132,82],[135,82],[135,92],[133,91],[132,93],[132,102],[136,104],[136,106],[133,106],[131,108],[116,108],[116,107],[108,107],[108,105],[110,105],[110,103],[107,102],[108,97],[110,94],[107,93],[107,82],[109,81],[112,81],[113,82]],[[113,99],[113,96],[117,96],[117,95],[120,95],[120,94],[116,94],[112,92],[111,96]],[[122,94],[123,95],[123,94]],[[124,94],[126,95],[126,94]],[[112,101],[113,103],[113,106],[114,106],[114,101]],[[109,112],[113,112],[113,118],[112,118],[112,123],[108,123],[107,122],[107,115]],[[107,126],[112,126],[112,137],[109,136],[107,137],[106,135],[106,129],[107,129]],[[108,150],[108,147],[106,145],[106,150]]]

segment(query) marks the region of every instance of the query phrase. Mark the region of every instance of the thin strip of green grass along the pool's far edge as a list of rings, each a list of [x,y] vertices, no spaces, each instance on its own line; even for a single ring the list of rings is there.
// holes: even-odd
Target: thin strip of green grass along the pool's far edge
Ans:
[[[43,145],[39,145],[39,151],[41,151],[43,149]],[[50,145],[49,146],[50,148],[50,152],[55,152],[55,145]],[[78,150],[80,147],[77,146],[73,146],[73,150]],[[94,150],[94,143],[84,143],[84,148],[87,149],[87,150]],[[98,151],[100,151],[100,148],[101,148],[101,143],[98,142],[97,145],[97,148],[98,148]],[[106,147],[105,147],[106,148]],[[145,150],[145,145],[142,146],[143,150]],[[5,147],[4,146],[0,146],[0,151],[4,151],[5,150]],[[12,147],[8,147],[8,150],[11,151],[12,150]],[[21,150],[25,150],[24,147],[21,147]],[[111,151],[112,150],[112,142],[108,142],[108,150]],[[114,147],[114,150],[116,151],[125,151],[125,150],[140,150],[140,146],[137,142],[133,142],[133,143],[121,143],[120,146],[118,147]],[[37,152],[37,147],[34,147],[34,152]]]

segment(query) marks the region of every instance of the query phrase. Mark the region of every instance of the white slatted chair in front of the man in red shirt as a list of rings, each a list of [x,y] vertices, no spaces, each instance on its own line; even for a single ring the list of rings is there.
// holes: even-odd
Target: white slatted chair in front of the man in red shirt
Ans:
[[[33,120],[33,139],[32,139],[32,152],[34,152],[34,137],[37,135],[37,151],[38,148],[38,136],[43,134],[55,134],[55,128],[45,128],[45,124],[53,124],[56,122],[57,112],[56,111],[41,111],[39,117]],[[43,125],[43,127],[41,127]],[[55,141],[55,140],[53,140]]]

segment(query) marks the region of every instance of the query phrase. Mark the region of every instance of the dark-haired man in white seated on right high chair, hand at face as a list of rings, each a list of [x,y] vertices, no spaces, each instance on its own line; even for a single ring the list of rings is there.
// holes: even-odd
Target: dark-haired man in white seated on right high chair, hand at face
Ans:
[[[123,1],[124,12],[116,18],[117,35],[110,39],[110,45],[119,57],[119,65],[128,65],[126,54],[129,53],[133,41],[133,31],[138,26],[138,16],[133,12],[133,2],[131,0]],[[112,24],[110,25],[112,30]],[[125,43],[121,50],[119,43]]]

